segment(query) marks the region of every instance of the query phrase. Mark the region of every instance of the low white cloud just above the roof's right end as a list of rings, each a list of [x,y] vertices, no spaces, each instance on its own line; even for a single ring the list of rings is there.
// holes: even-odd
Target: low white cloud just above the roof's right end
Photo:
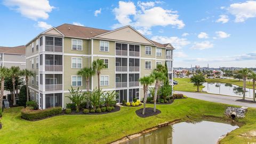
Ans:
[[[190,44],[186,38],[179,37],[153,36],[151,39],[162,44],[171,43],[175,49],[181,49],[183,46]]]

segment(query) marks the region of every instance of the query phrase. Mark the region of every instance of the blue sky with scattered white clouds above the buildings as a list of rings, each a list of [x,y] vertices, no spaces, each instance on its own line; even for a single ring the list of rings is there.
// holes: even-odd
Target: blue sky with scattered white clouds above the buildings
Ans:
[[[131,25],[172,43],[174,67],[255,67],[256,1],[47,1],[0,3],[0,45],[26,44],[62,23],[115,29]]]

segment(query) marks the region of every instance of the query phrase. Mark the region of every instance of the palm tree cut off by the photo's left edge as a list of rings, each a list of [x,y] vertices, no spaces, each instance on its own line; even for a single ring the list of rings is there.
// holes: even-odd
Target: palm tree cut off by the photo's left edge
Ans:
[[[1,78],[1,93],[0,93],[0,110],[3,108],[3,98],[4,98],[4,78],[9,76],[9,69],[5,67],[0,68],[0,78]]]

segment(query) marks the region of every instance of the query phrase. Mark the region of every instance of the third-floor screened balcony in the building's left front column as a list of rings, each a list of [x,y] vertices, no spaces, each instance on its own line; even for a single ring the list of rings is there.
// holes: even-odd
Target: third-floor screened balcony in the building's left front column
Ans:
[[[62,55],[45,54],[45,71],[62,71]]]

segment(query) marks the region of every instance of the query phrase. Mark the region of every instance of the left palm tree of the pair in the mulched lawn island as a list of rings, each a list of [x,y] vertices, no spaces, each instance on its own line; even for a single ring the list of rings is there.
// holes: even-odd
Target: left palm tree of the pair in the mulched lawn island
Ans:
[[[144,76],[140,78],[140,83],[143,84],[144,99],[143,99],[143,111],[142,115],[146,113],[146,103],[148,98],[148,85],[154,83],[154,79],[151,76]]]

